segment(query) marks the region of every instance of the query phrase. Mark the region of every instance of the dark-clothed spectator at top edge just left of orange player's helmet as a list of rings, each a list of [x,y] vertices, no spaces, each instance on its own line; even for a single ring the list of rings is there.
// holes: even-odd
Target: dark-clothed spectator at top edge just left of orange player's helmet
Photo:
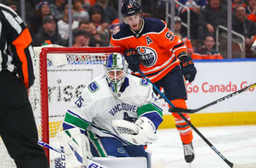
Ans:
[[[103,8],[104,13],[106,14],[104,17],[109,24],[118,18],[114,7],[108,5],[108,0],[97,0],[97,3],[94,6],[98,5]]]

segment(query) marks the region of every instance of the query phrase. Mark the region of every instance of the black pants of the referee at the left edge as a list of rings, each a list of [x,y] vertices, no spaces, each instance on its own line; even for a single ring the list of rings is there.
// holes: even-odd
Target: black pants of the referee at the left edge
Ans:
[[[9,72],[0,72],[0,135],[17,168],[49,167],[37,144],[36,123],[27,89]]]

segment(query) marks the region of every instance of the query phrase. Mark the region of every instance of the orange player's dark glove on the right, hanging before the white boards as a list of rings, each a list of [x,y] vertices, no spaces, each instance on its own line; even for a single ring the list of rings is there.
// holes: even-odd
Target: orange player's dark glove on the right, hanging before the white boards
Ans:
[[[182,73],[186,80],[192,82],[196,76],[196,68],[193,60],[189,56],[179,57]]]

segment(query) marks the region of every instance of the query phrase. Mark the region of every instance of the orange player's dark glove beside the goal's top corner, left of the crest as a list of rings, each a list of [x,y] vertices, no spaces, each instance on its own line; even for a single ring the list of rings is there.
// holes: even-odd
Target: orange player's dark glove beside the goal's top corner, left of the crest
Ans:
[[[137,51],[133,48],[128,49],[124,53],[125,60],[128,63],[128,68],[132,70],[132,72],[136,72],[139,70],[140,65],[140,54],[137,53]]]

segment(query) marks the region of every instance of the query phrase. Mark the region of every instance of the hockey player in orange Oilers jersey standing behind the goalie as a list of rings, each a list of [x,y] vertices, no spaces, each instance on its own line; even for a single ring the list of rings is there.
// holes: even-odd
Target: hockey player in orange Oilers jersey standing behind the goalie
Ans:
[[[110,46],[126,49],[124,55],[132,74],[141,77],[137,72],[140,68],[156,87],[163,87],[165,96],[174,106],[187,108],[185,79],[192,82],[196,68],[187,55],[185,44],[162,20],[142,18],[141,7],[135,1],[125,1],[121,13],[125,23],[115,27]],[[189,114],[183,115],[190,121]],[[173,116],[180,133],[185,160],[191,163],[195,158],[192,130],[177,113],[173,113]]]

